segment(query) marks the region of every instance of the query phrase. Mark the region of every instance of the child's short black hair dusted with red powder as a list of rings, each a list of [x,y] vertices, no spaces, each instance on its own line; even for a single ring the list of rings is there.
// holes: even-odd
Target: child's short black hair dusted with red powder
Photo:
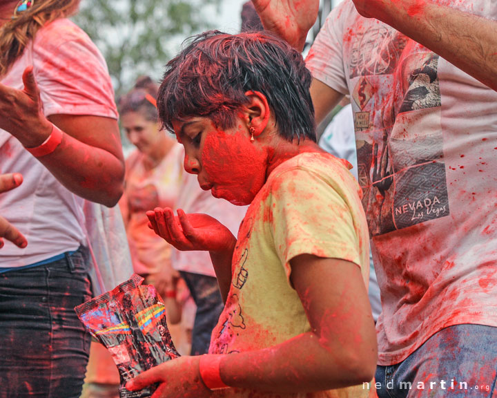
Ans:
[[[232,128],[252,90],[266,96],[282,137],[315,141],[310,86],[302,55],[269,32],[204,32],[166,65],[157,96],[159,120],[171,132],[173,120],[193,116]]]

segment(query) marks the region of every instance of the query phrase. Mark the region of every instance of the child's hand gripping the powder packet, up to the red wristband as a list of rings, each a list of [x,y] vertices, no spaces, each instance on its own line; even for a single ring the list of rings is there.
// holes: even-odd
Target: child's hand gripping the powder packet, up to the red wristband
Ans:
[[[146,370],[126,383],[126,389],[139,391],[160,383],[151,398],[203,398],[210,397],[209,390],[199,372],[200,357],[179,357]]]

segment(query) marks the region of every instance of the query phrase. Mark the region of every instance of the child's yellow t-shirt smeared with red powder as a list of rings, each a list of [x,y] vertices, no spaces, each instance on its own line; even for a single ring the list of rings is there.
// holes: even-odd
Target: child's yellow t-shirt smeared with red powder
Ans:
[[[309,332],[291,286],[299,254],[349,260],[369,278],[369,235],[360,187],[344,160],[302,153],[280,164],[257,193],[240,226],[231,289],[213,330],[211,354],[259,350]],[[332,287],[330,287],[332,288]],[[367,397],[362,386],[280,397]],[[225,397],[273,397],[231,388]]]

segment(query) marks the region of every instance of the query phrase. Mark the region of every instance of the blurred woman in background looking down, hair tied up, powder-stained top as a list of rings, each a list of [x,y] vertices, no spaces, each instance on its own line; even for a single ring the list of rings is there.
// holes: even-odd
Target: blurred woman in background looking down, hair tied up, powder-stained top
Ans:
[[[150,77],[142,77],[119,99],[121,127],[136,147],[126,159],[126,182],[119,206],[134,271],[166,299],[173,295],[179,274],[171,267],[171,246],[148,229],[145,212],[164,203],[175,207],[184,171],[182,146],[159,129],[157,88]]]

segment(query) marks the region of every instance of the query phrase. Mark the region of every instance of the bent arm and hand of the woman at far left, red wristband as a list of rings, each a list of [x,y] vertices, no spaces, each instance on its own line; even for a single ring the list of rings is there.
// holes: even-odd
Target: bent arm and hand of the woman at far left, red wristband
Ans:
[[[0,128],[28,149],[62,131],[53,151],[37,159],[61,184],[82,198],[113,206],[121,197],[124,159],[117,120],[90,115],[43,115],[32,67],[23,73],[24,89],[0,84]]]

